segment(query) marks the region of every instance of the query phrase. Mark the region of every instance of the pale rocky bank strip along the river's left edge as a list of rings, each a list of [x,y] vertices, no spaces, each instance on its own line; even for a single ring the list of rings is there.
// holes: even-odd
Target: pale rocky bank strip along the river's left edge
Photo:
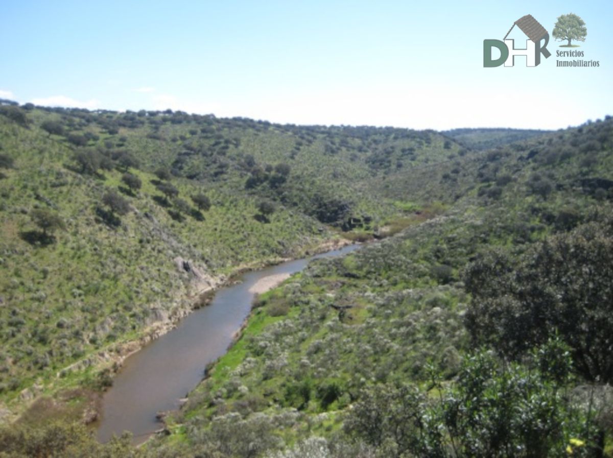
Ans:
[[[303,247],[294,258],[327,252],[349,244],[351,241],[340,237],[329,239],[314,247]],[[39,381],[24,389],[20,397],[9,406],[0,406],[3,412],[2,421],[39,422],[60,416],[66,418],[69,406],[72,420],[95,426],[96,419],[101,413],[100,388],[97,387],[112,385],[113,379],[124,366],[126,359],[153,340],[177,328],[183,318],[194,310],[207,306],[219,288],[232,284],[240,274],[289,260],[292,258],[270,258],[237,266],[227,276],[203,276],[194,279],[186,285],[185,290],[177,291],[172,304],[166,310],[161,309],[158,304],[152,304],[153,321],[135,332],[132,337],[129,336],[123,342],[109,344],[96,353],[57,370],[55,380],[52,382]]]

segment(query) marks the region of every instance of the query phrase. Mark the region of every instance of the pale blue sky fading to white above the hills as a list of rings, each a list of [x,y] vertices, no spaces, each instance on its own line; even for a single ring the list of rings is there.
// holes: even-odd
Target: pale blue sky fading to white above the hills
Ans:
[[[600,67],[483,67],[531,14]],[[0,98],[291,124],[560,129],[613,114],[609,1],[1,0]],[[525,47],[515,28],[509,38]]]

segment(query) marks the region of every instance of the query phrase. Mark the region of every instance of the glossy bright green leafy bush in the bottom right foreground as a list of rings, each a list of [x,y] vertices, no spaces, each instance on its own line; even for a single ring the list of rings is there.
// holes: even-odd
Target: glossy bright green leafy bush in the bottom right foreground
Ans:
[[[573,456],[599,456],[593,413],[566,396],[570,367],[560,340],[531,352],[525,365],[478,351],[465,359],[454,385],[434,374],[435,392],[389,384],[364,389],[344,430],[386,457],[544,457],[569,447]]]

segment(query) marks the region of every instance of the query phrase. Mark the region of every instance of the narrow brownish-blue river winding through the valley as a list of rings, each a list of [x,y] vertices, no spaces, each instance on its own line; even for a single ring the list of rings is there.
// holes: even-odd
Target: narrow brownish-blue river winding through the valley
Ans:
[[[204,377],[207,364],[226,353],[249,315],[253,286],[259,280],[294,274],[314,258],[335,257],[357,247],[350,245],[243,274],[240,283],[217,291],[210,305],[189,314],[177,328],[129,356],[113,386],[104,393],[98,439],[104,442],[127,430],[134,435],[134,443],[140,443],[159,429],[156,413],[178,408],[180,399]]]

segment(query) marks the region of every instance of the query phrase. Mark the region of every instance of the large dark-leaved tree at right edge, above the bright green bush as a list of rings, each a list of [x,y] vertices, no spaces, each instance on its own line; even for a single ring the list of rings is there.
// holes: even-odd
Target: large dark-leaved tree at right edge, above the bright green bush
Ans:
[[[520,258],[493,250],[464,281],[475,344],[521,358],[557,332],[578,372],[613,381],[613,219],[551,236]]]

